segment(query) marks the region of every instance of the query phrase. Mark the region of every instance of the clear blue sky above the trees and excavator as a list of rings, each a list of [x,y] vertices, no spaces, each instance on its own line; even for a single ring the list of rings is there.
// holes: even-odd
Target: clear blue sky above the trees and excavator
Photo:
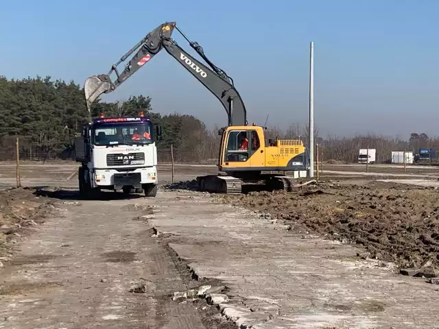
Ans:
[[[235,80],[249,121],[308,120],[309,42],[315,49],[320,134],[439,135],[439,1],[3,1],[1,70],[83,84],[165,21]],[[45,3],[45,5],[42,5]],[[190,49],[178,34],[179,45]],[[104,100],[150,95],[163,114],[226,124],[213,95],[165,51]]]

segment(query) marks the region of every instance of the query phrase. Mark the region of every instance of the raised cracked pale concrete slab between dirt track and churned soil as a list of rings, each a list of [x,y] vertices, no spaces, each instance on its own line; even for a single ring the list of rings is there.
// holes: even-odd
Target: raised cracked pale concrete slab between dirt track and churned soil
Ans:
[[[438,286],[358,260],[350,245],[198,193],[167,192],[150,223],[200,278],[222,280],[222,313],[243,328],[434,328]]]

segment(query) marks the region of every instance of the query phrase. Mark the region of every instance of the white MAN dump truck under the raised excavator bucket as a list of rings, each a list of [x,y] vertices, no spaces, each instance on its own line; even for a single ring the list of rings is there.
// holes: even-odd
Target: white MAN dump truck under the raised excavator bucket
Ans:
[[[82,197],[100,190],[157,193],[157,148],[161,127],[150,118],[111,117],[93,119],[75,138],[75,157],[81,163],[78,182]],[[143,191],[142,191],[143,190]]]

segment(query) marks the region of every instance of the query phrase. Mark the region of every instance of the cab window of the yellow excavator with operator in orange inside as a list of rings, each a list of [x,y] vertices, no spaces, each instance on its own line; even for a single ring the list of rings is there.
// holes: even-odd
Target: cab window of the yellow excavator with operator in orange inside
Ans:
[[[254,130],[231,130],[228,132],[225,161],[246,162],[260,147]]]

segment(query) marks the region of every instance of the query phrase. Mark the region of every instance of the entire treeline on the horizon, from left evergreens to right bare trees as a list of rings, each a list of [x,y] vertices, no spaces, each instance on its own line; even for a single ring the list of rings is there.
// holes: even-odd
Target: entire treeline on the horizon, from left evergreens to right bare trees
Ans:
[[[114,103],[97,100],[92,115],[135,115],[139,110],[163,126],[163,141],[158,143],[161,149],[158,154],[163,160],[169,160],[168,150],[173,145],[177,161],[215,163],[219,146],[217,127],[209,130],[191,115],[156,113],[150,97],[132,96]],[[0,76],[0,160],[14,157],[16,137],[20,138],[20,153],[24,158],[72,158],[75,134],[80,133],[87,118],[83,90],[74,82],[51,80],[51,77],[8,80]],[[270,127],[266,137],[300,138],[306,145],[308,129],[297,123],[287,130]],[[439,140],[426,134],[412,133],[406,141],[374,134],[323,138],[317,128],[314,141],[320,145],[324,160],[339,162],[355,162],[358,150],[366,147],[377,149],[378,162],[390,161],[392,151],[407,149],[417,153],[420,147],[439,147]]]

